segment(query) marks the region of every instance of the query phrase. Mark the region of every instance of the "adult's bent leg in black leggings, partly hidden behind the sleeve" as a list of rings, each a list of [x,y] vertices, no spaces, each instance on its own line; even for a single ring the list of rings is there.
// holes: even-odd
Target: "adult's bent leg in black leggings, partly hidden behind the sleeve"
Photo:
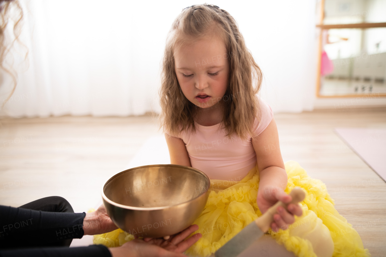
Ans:
[[[71,204],[60,196],[48,196],[44,197],[30,203],[26,203],[25,205],[20,206],[19,208],[36,210],[36,211],[50,211],[50,212],[68,212],[74,213],[74,210]],[[72,238],[61,240],[55,243],[47,243],[47,242],[34,242],[34,245],[29,245],[33,247],[39,246],[67,246],[71,245]],[[27,242],[26,242],[27,243]]]

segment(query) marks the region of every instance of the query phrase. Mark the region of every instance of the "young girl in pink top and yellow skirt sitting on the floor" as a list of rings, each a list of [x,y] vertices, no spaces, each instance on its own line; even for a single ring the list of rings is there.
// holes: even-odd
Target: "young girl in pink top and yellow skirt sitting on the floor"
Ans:
[[[300,186],[306,199],[278,208],[269,238],[288,256],[368,256],[325,185],[297,162],[284,164],[273,112],[257,96],[261,79],[228,12],[192,5],[176,18],[163,59],[162,126],[171,164],[205,172],[212,185],[194,222],[202,237],[186,253],[210,256],[277,201],[289,203]]]

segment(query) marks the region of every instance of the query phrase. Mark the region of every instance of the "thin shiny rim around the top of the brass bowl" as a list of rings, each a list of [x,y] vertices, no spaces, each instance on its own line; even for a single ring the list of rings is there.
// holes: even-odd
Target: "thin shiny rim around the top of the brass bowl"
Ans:
[[[178,204],[175,204],[175,205],[166,205],[166,206],[158,206],[158,207],[135,207],[135,206],[130,206],[130,205],[121,205],[121,204],[115,203],[114,201],[112,201],[112,200],[107,198],[107,196],[105,195],[105,192],[103,192],[103,189],[105,188],[107,183],[109,183],[112,179],[114,179],[115,177],[123,174],[124,172],[133,171],[135,169],[147,168],[147,167],[177,167],[177,168],[183,168],[183,169],[189,169],[191,171],[195,171],[197,173],[200,173],[202,176],[204,176],[207,179],[207,190],[202,191],[201,194],[199,194],[198,196],[196,196],[195,198],[193,198],[193,199],[191,199],[189,201],[178,203]],[[194,201],[194,200],[200,198],[203,194],[207,194],[209,189],[210,189],[210,179],[209,179],[209,177],[207,176],[207,174],[205,174],[204,172],[202,172],[202,171],[200,171],[198,169],[195,169],[195,168],[189,167],[189,166],[177,165],[177,164],[152,164],[152,165],[138,166],[138,167],[126,169],[124,171],[121,171],[121,172],[115,174],[111,178],[109,178],[106,181],[106,183],[103,184],[103,186],[102,186],[102,199],[104,201],[107,201],[108,203],[110,203],[110,205],[114,205],[114,206],[117,206],[117,207],[120,207],[120,208],[124,208],[124,209],[127,209],[127,210],[139,210],[139,211],[163,210],[165,208],[175,207],[175,206],[179,206],[179,205],[184,205],[184,204],[186,204],[186,203],[188,203],[190,201]]]

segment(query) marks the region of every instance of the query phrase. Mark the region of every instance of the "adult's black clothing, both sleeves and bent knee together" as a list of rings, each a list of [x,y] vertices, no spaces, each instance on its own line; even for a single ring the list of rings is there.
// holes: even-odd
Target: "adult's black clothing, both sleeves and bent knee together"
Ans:
[[[69,248],[73,238],[83,237],[85,216],[60,196],[0,205],[0,257],[111,257],[104,245]]]

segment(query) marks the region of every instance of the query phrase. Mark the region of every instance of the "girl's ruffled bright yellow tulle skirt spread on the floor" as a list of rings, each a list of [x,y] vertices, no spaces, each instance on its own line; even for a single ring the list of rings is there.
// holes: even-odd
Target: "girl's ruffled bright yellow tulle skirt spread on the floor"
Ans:
[[[371,256],[364,249],[358,233],[334,208],[334,200],[327,192],[325,184],[319,179],[310,178],[295,161],[285,163],[288,175],[287,187],[290,193],[295,187],[306,192],[300,202],[303,215],[295,216],[295,223],[286,230],[269,235],[277,243],[298,257],[332,256]],[[193,224],[197,224],[202,237],[185,254],[207,257],[239,233],[245,226],[261,216],[256,203],[259,189],[257,166],[248,172],[241,181],[211,180],[210,194],[205,209]],[[195,232],[195,233],[196,233]],[[94,244],[116,247],[134,236],[121,229],[101,235],[94,235]]]

